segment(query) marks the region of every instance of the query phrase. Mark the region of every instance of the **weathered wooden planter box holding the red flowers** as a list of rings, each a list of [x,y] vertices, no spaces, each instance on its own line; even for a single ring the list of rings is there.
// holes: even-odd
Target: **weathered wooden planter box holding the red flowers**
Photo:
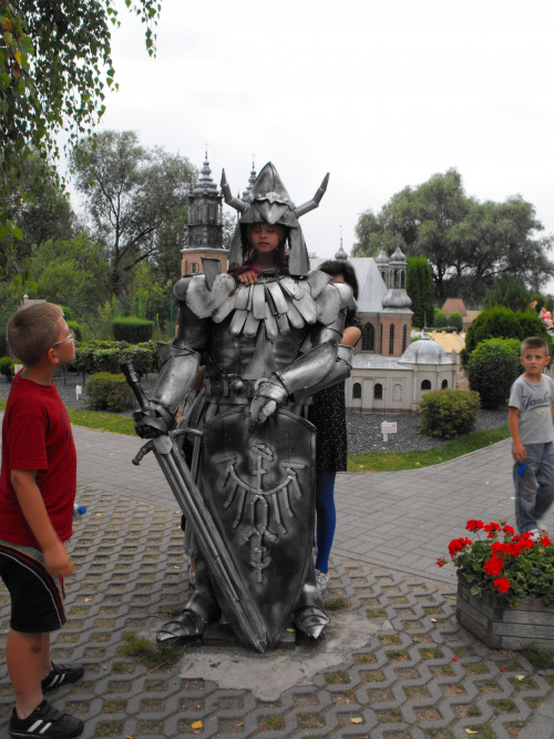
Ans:
[[[523,598],[519,606],[499,606],[492,593],[474,598],[471,586],[458,579],[455,617],[468,631],[494,649],[534,645],[554,651],[554,606],[542,598]]]

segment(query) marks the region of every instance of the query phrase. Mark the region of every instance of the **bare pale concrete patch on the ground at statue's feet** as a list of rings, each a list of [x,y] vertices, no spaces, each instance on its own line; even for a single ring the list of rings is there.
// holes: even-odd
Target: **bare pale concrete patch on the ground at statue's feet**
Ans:
[[[334,615],[327,638],[316,647],[297,647],[259,655],[240,647],[198,647],[179,662],[179,677],[216,682],[224,689],[252,690],[258,700],[278,700],[296,685],[311,682],[324,670],[341,665],[377,631],[392,630],[390,621],[359,614]]]

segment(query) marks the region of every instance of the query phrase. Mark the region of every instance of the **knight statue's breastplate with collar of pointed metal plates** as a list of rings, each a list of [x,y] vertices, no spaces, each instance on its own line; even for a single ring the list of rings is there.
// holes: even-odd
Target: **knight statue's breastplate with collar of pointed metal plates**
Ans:
[[[237,285],[229,274],[208,284],[204,275],[177,283],[175,294],[198,318],[214,325],[204,350],[206,391],[216,397],[252,397],[254,383],[285,370],[309,346],[314,324],[332,324],[350,300],[350,288],[330,285],[330,276],[312,272],[308,279],[261,272],[252,285]],[[305,345],[302,347],[302,345]],[[243,385],[240,385],[243,383]]]

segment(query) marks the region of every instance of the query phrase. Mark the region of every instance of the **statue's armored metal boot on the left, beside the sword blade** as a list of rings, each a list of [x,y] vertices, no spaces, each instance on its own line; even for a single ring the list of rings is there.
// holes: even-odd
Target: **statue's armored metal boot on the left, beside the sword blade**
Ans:
[[[195,575],[195,591],[183,613],[160,629],[156,636],[160,644],[178,644],[191,637],[202,636],[211,624],[219,620],[222,609],[215,600],[206,563],[202,557],[197,558]]]

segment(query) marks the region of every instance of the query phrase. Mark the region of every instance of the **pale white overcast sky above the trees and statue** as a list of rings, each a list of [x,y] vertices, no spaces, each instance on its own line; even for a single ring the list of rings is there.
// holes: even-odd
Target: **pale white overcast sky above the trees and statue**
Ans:
[[[123,3],[121,3],[123,6]],[[350,251],[359,214],[456,168],[480,201],[521,194],[554,232],[554,3],[548,0],[162,0],[157,57],[122,7],[117,93],[135,130],[232,191],[273,161],[310,252]]]

